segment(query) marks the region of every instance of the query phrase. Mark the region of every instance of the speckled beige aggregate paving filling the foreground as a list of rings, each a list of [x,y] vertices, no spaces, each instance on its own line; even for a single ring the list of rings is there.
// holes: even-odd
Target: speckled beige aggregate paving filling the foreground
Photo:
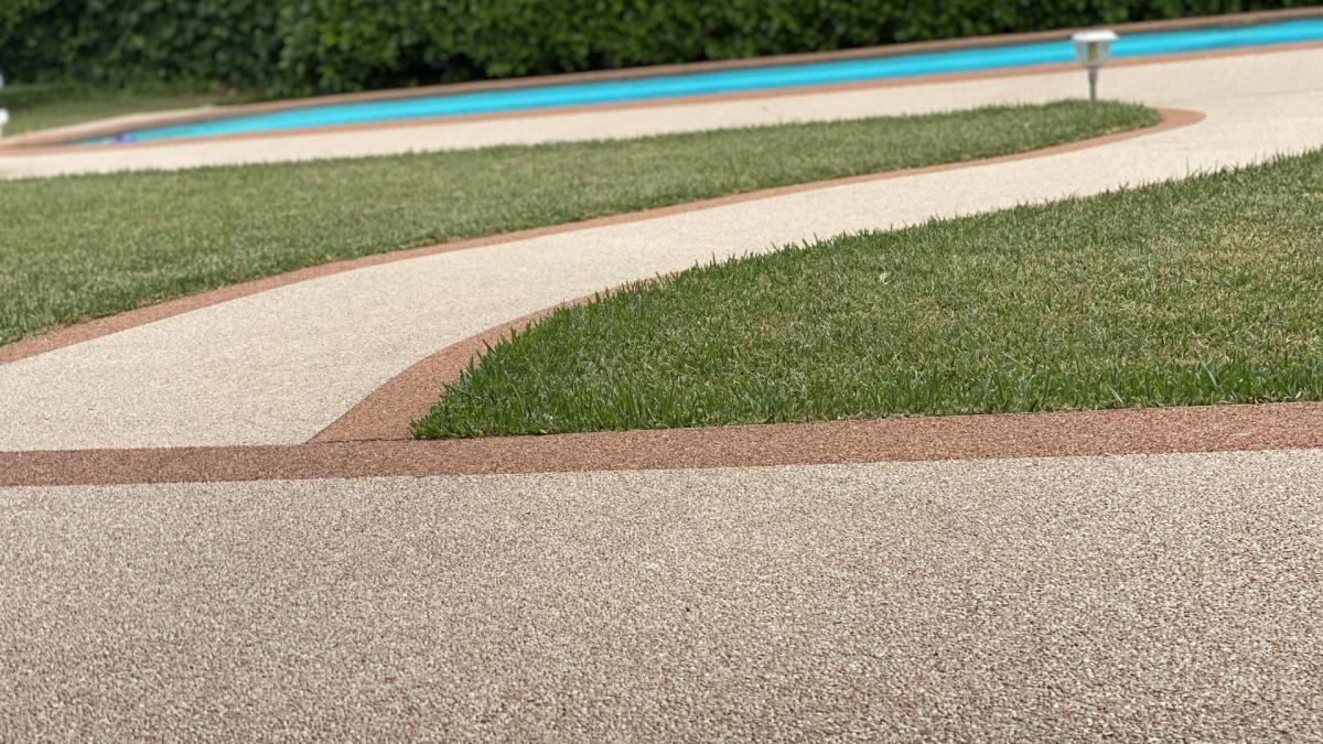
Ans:
[[[0,731],[1323,736],[1323,451],[0,491]]]

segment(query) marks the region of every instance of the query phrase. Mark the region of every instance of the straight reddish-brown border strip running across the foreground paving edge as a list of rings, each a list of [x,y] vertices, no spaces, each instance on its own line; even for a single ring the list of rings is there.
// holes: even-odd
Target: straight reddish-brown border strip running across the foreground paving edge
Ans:
[[[0,486],[671,470],[1323,447],[1323,404],[401,442],[0,453]]]

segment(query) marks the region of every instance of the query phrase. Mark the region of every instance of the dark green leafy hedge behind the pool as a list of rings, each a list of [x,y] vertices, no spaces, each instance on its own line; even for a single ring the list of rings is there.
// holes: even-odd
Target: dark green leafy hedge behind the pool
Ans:
[[[0,70],[343,91],[1308,5],[1310,0],[0,0]]]

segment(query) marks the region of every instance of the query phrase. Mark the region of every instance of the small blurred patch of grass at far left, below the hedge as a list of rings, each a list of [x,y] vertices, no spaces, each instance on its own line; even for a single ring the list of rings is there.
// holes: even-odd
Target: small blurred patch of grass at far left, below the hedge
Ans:
[[[9,110],[9,123],[4,128],[7,136],[124,114],[239,103],[247,99],[233,91],[93,90],[58,85],[9,85],[0,89],[0,109]]]

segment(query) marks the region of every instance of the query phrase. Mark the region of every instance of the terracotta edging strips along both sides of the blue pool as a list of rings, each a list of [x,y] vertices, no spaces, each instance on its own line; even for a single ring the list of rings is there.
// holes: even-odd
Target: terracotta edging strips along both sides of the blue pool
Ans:
[[[1201,16],[1193,19],[1172,19],[1164,21],[1139,21],[1127,24],[1113,24],[1109,28],[1114,28],[1122,33],[1146,33],[1158,30],[1189,30],[1201,28],[1217,28],[1217,26],[1237,26],[1273,21],[1287,21],[1297,19],[1308,19],[1323,16],[1323,7],[1312,8],[1290,8],[1282,11],[1256,11],[1246,13],[1230,13],[1222,16]],[[721,61],[706,61],[706,62],[691,62],[681,65],[654,65],[646,68],[627,68],[620,70],[593,70],[585,73],[569,73],[561,75],[540,75],[529,78],[515,78],[515,79],[499,79],[499,81],[476,81],[467,83],[451,83],[451,85],[433,85],[433,86],[419,86],[411,89],[396,89],[396,90],[377,90],[365,93],[349,93],[339,95],[321,95],[311,98],[300,98],[291,101],[273,101],[263,103],[250,103],[238,106],[225,106],[217,107],[214,110],[192,110],[177,116],[163,115],[159,119],[153,119],[151,123],[135,124],[135,127],[161,127],[171,124],[194,123],[210,119],[243,116],[251,114],[263,114],[271,111],[283,111],[291,109],[307,109],[315,106],[327,105],[341,105],[341,103],[361,103],[370,101],[390,101],[390,99],[407,99],[407,98],[421,98],[429,95],[450,95],[450,94],[463,94],[463,93],[480,93],[490,90],[515,90],[515,89],[534,89],[546,87],[553,85],[565,83],[579,83],[579,82],[601,82],[601,81],[619,81],[619,79],[638,79],[658,75],[675,75],[675,74],[700,74],[709,71],[721,70],[734,70],[734,69],[757,69],[778,65],[803,65],[812,62],[830,62],[830,61],[843,61],[843,60],[865,60],[865,58],[881,58],[881,57],[897,57],[904,54],[917,54],[917,53],[933,53],[933,52],[951,52],[960,49],[983,49],[991,46],[1004,46],[1013,44],[1032,44],[1040,41],[1057,41],[1061,38],[1068,38],[1073,29],[1056,29],[1045,32],[1028,32],[1028,33],[1008,33],[1008,34],[994,34],[994,36],[978,36],[966,38],[953,38],[953,40],[938,40],[938,41],[919,41],[919,42],[906,42],[906,44],[889,44],[881,46],[867,46],[857,49],[844,49],[835,52],[816,52],[816,53],[802,53],[802,54],[779,54],[771,57],[755,57],[745,60],[721,60]],[[1199,60],[1207,57],[1230,57],[1241,54],[1256,54],[1256,53],[1269,53],[1269,52],[1286,52],[1291,49],[1310,49],[1323,45],[1323,42],[1298,42],[1298,44],[1281,44],[1281,45],[1266,45],[1254,46],[1244,49],[1221,49],[1221,50],[1205,50],[1205,52],[1191,52],[1191,53],[1176,53],[1176,54],[1163,54],[1154,57],[1139,57],[1127,60],[1114,60],[1113,66],[1131,66],[1131,65],[1147,65],[1147,64],[1160,64],[1160,62],[1177,62],[1187,60]],[[919,75],[908,78],[890,78],[881,81],[864,81],[856,83],[839,83],[839,85],[824,85],[824,86],[806,86],[806,87],[792,87],[792,89],[778,89],[778,90],[765,90],[765,91],[747,91],[747,93],[732,93],[732,94],[714,94],[714,95],[692,95],[692,97],[679,97],[667,98],[656,101],[643,101],[643,102],[627,102],[627,103],[605,103],[593,106],[566,106],[550,110],[532,110],[532,111],[512,111],[504,114],[483,114],[471,116],[438,116],[427,119],[406,119],[394,122],[374,122],[365,124],[347,124],[347,126],[329,126],[329,127],[304,127],[304,128],[291,128],[291,130],[277,130],[266,132],[245,132],[233,135],[216,135],[216,136],[201,136],[189,138],[187,143],[206,143],[206,142],[225,142],[237,139],[259,139],[259,138],[273,138],[273,136],[299,136],[307,134],[323,134],[323,132],[349,132],[349,131],[368,131],[389,127],[407,127],[407,126],[427,126],[438,123],[459,123],[459,122],[475,122],[475,120],[492,120],[492,119],[509,119],[509,118],[533,118],[533,116],[548,116],[557,114],[572,114],[583,111],[609,111],[609,110],[622,110],[622,109],[640,109],[652,106],[673,106],[676,103],[683,103],[688,101],[693,102],[714,102],[714,101],[738,101],[738,99],[755,99],[755,98],[770,98],[782,95],[796,95],[803,93],[822,93],[832,90],[859,90],[859,89],[873,89],[873,87],[894,87],[905,85],[923,85],[923,83],[937,83],[937,82],[955,82],[966,79],[984,79],[994,77],[1013,77],[1025,74],[1046,74],[1057,73],[1062,70],[1077,69],[1074,64],[1057,64],[1057,65],[1033,65],[1021,68],[1004,68],[1000,70],[984,70],[976,73],[953,73],[953,74],[939,74],[939,75]],[[0,143],[0,158],[7,155],[45,155],[45,154],[58,154],[79,151],[87,152],[101,148],[118,148],[122,150],[123,144],[71,144],[69,138],[87,139],[97,136],[111,136],[123,131],[124,124],[112,124],[106,127],[95,126],[81,126],[77,131],[69,130],[50,130],[38,131],[25,135],[17,135],[8,138],[5,142]],[[181,144],[181,140],[163,140],[163,142],[144,142],[135,143],[132,147],[167,147],[172,144]]]

